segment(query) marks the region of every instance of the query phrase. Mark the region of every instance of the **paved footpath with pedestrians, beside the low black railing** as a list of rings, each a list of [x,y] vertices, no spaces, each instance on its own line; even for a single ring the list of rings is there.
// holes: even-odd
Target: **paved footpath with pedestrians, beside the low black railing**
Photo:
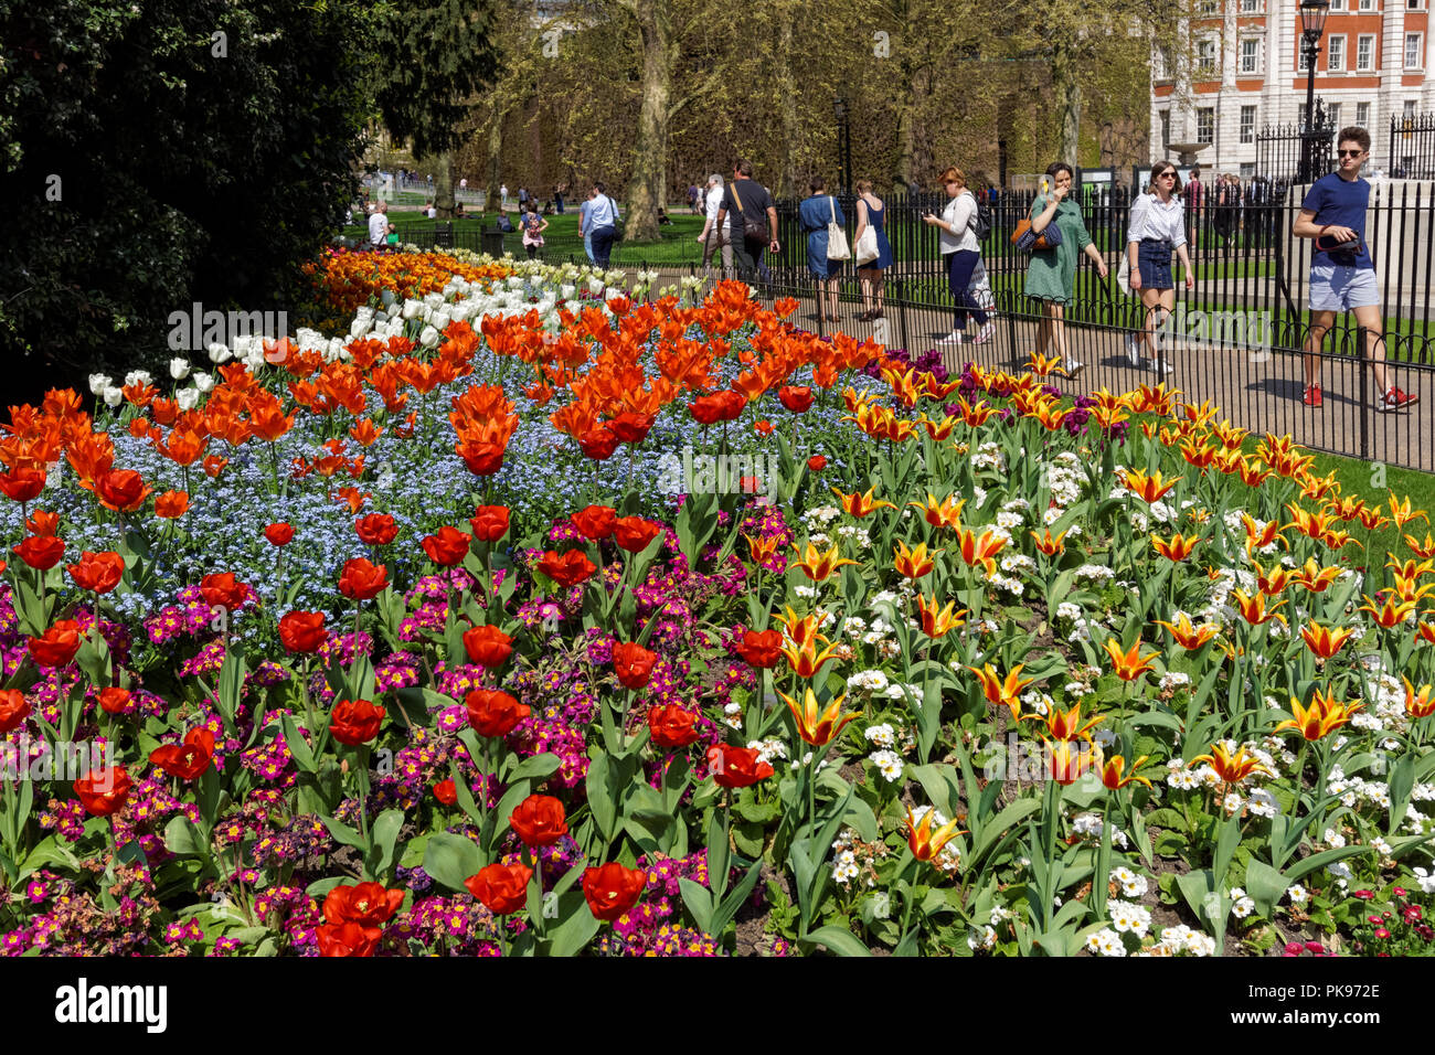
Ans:
[[[659,286],[687,274],[673,271]],[[987,344],[938,346],[951,329],[947,309],[888,309],[877,323],[857,320],[862,306],[844,301],[839,323],[818,319],[811,293],[798,309],[796,322],[819,332],[841,330],[855,337],[875,337],[888,347],[923,353],[941,347],[949,369],[973,362],[986,367],[1016,367],[1036,347],[1038,323],[1030,319],[997,317],[996,337]],[[905,319],[903,317],[905,314]],[[885,323],[885,329],[878,327]],[[976,326],[969,329],[976,334]],[[1125,337],[1119,330],[1068,327],[1072,355],[1086,366],[1075,379],[1053,378],[1071,395],[1098,389],[1128,392],[1161,380],[1155,373],[1134,367],[1126,359]],[[1375,409],[1375,376],[1368,366],[1346,356],[1327,356],[1322,366],[1325,405],[1320,409],[1302,403],[1304,386],[1302,356],[1293,352],[1254,352],[1215,344],[1177,344],[1170,352],[1174,372],[1165,378],[1192,403],[1210,400],[1220,408],[1220,418],[1250,429],[1254,435],[1290,433],[1304,446],[1332,451],[1372,465],[1383,462],[1435,472],[1435,370],[1396,367],[1395,385],[1419,396],[1405,411],[1385,413]],[[1363,373],[1363,378],[1362,378]],[[1363,382],[1363,390],[1362,390]]]

